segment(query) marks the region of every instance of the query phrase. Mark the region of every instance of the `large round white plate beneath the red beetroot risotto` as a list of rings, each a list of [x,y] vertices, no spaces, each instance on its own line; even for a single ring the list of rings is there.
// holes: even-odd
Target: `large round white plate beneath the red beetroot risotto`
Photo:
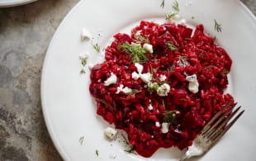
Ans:
[[[111,36],[127,31],[140,20],[164,21],[164,13],[172,10],[166,0],[88,0],[81,1],[69,13],[53,37],[45,57],[41,79],[41,100],[45,122],[56,148],[65,160],[149,160],[126,154],[119,139],[109,142],[103,135],[107,123],[96,116],[96,107],[88,92],[88,68],[80,75],[78,54],[88,51],[88,63],[102,60],[90,42],[80,41],[83,27],[92,32],[94,41],[106,46]],[[246,109],[238,123],[200,160],[255,160],[256,149],[256,21],[244,5],[235,0],[178,1],[181,12],[190,25],[203,23],[206,32],[218,37],[234,63],[230,73],[230,91]],[[192,20],[192,17],[195,17]],[[222,24],[222,33],[214,31],[214,19]],[[102,37],[97,37],[101,32]],[[84,136],[83,144],[79,138]],[[112,144],[112,145],[111,145]],[[99,156],[95,154],[98,149]],[[159,149],[150,159],[177,158],[178,149]]]

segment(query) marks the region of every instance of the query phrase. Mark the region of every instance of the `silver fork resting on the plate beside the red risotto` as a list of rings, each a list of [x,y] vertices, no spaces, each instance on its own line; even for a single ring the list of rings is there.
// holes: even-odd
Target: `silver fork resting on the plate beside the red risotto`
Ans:
[[[235,114],[240,110],[241,106],[237,107],[235,111],[232,112],[237,103],[235,103],[232,107],[230,107],[230,104],[231,102],[228,102],[225,107],[223,107],[219,112],[216,113],[215,116],[211,118],[211,120],[201,130],[200,135],[197,135],[196,139],[193,140],[192,145],[187,148],[187,151],[183,157],[178,159],[179,161],[189,159],[193,156],[201,156],[202,154],[206,154],[206,152],[211,149],[211,147],[216,144],[216,142],[220,140],[223,135],[225,135],[226,131],[228,131],[230,127],[235,124],[235,121],[237,121],[244,113],[244,110],[240,111],[239,114],[235,116]],[[225,111],[225,109],[228,107],[230,107],[230,109]],[[230,121],[234,116],[235,118]]]

